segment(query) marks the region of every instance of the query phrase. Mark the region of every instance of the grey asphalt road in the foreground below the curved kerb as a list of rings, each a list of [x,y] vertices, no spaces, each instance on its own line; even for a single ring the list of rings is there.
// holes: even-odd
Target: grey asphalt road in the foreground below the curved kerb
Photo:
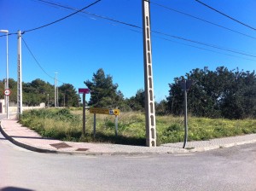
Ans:
[[[204,153],[33,153],[0,135],[0,190],[256,190],[256,144]]]

